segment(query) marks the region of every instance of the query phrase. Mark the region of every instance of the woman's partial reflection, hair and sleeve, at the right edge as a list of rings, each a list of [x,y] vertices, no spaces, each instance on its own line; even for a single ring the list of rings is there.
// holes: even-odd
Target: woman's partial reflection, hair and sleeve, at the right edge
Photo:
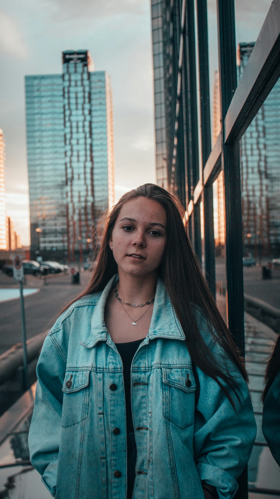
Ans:
[[[271,453],[280,466],[280,336],[266,371],[263,393],[263,434]]]

